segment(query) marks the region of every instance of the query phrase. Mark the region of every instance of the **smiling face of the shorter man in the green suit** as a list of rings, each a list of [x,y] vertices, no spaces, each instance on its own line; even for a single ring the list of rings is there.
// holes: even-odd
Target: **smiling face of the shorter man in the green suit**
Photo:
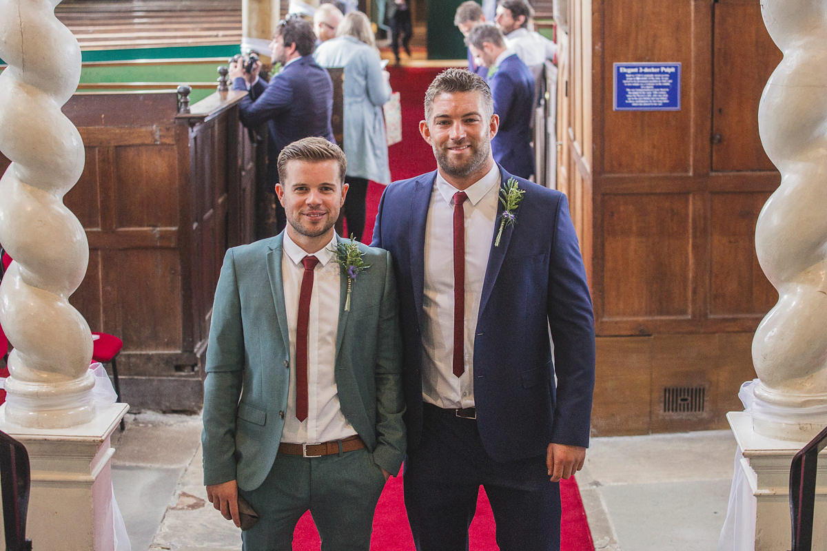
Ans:
[[[333,237],[347,183],[334,159],[290,160],[285,175],[284,182],[275,184],[275,194],[287,216],[287,233],[304,251],[315,253]]]

